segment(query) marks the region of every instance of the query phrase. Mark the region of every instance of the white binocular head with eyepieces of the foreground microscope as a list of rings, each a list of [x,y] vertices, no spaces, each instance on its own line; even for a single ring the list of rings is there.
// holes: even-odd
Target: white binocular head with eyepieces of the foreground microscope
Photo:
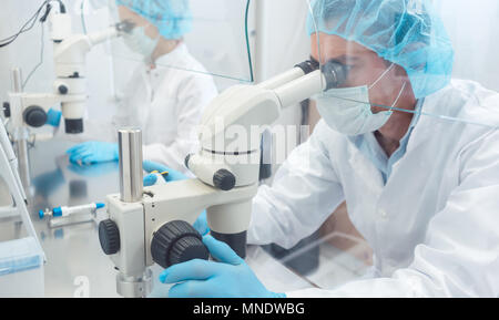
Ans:
[[[305,62],[258,85],[226,90],[206,109],[200,126],[201,151],[187,156],[186,166],[201,180],[218,188],[215,176],[221,171],[235,179],[232,187],[256,184],[262,127],[274,123],[284,107],[338,86],[345,78],[338,64],[316,70],[312,62]]]

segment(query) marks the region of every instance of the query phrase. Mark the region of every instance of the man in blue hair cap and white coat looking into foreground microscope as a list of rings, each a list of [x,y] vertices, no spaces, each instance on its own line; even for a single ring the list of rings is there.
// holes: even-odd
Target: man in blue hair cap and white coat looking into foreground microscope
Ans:
[[[310,4],[312,56],[346,81],[314,97],[323,121],[258,188],[247,241],[291,248],[346,202],[371,272],[276,293],[205,236],[216,262],[165,269],[167,296],[499,297],[499,94],[451,80],[454,50],[427,0]]]

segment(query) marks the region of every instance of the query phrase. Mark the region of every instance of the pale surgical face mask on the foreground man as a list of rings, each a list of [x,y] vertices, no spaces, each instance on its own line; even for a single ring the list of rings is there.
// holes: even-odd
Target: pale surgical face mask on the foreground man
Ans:
[[[391,69],[391,64],[370,86],[355,86],[330,89],[316,95],[317,109],[327,125],[346,135],[360,135],[375,132],[390,118],[391,109],[400,99],[406,83],[404,83],[396,101],[389,111],[374,114],[370,111],[369,90],[373,89]]]

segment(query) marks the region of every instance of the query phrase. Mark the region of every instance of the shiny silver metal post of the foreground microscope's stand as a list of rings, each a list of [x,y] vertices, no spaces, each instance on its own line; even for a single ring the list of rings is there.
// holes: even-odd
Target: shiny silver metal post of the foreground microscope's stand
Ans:
[[[118,131],[120,155],[120,199],[124,203],[142,200],[142,131]]]

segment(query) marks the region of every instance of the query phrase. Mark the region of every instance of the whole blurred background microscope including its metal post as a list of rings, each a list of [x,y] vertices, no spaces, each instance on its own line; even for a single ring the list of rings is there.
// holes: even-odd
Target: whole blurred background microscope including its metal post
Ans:
[[[3,114],[9,118],[9,135],[19,158],[21,179],[29,186],[28,141],[29,127],[41,127],[47,123],[50,107],[61,104],[65,132],[83,132],[83,116],[86,102],[85,58],[93,47],[129,33],[130,22],[118,23],[106,30],[92,34],[73,34],[71,17],[61,7],[60,12],[51,14],[53,61],[55,81],[51,93],[28,93],[22,91],[22,75],[18,68],[12,69],[12,91],[9,102],[3,103]]]

